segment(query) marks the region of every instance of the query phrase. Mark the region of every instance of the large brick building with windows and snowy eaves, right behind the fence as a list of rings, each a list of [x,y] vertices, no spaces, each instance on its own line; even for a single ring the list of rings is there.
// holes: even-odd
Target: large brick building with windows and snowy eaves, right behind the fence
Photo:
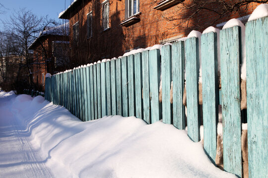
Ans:
[[[68,19],[70,27],[71,59],[73,66],[123,55],[136,48],[173,42],[186,37],[190,31],[203,31],[211,25],[221,28],[226,21],[240,18],[246,22],[258,4],[216,20],[215,14],[203,12],[179,24],[165,17],[187,16],[188,10],[180,10],[179,0],[74,0],[60,13]],[[184,0],[183,0],[184,1]],[[191,0],[186,0],[184,2]],[[217,6],[216,8],[222,8]]]

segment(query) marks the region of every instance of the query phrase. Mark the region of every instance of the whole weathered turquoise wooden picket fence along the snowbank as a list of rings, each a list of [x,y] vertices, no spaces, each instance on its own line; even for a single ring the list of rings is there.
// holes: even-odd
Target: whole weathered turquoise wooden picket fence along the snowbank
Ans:
[[[224,170],[242,177],[241,29],[220,31]],[[249,177],[268,175],[268,17],[246,24]],[[201,36],[204,150],[216,156],[218,123],[217,38]],[[185,61],[185,63],[184,63]],[[136,116],[148,124],[185,129],[184,65],[189,137],[200,141],[199,39],[164,45],[46,78],[45,99],[65,106],[82,121],[107,115]],[[162,102],[159,102],[160,68]],[[173,81],[173,104],[170,86]]]

